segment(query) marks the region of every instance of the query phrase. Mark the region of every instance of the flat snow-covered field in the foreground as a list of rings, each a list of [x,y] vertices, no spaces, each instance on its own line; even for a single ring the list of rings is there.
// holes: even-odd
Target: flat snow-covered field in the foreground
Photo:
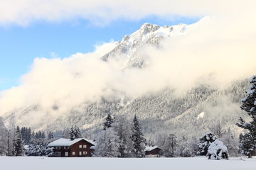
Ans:
[[[78,168],[92,170],[255,170],[256,158],[240,159],[237,157],[215,161],[208,160],[206,157],[148,159],[0,157],[0,169],[4,170],[70,170]]]

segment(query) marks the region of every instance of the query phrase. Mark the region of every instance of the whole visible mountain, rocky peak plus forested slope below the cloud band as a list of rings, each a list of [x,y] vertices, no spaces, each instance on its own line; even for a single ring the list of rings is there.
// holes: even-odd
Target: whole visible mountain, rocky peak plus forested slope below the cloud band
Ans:
[[[161,40],[186,34],[191,26],[179,24],[160,27],[145,23],[132,35],[126,35],[113,50],[101,57],[105,62],[124,60],[124,67],[144,69],[149,63],[149,57],[141,55],[145,45],[161,47]],[[46,109],[38,105],[19,108],[6,113],[16,113],[20,126],[27,126],[29,121],[35,121],[32,128],[37,130],[64,130],[71,125],[83,129],[86,137],[93,138],[97,130],[102,129],[102,121],[107,112],[112,115],[125,114],[132,118],[137,114],[141,120],[146,137],[152,137],[159,132],[172,132],[177,136],[199,137],[210,127],[220,123],[225,130],[230,128],[238,132],[235,126],[238,118],[244,115],[240,110],[240,99],[247,90],[246,79],[233,81],[228,86],[213,88],[205,84],[191,86],[182,96],[177,96],[174,89],[166,87],[157,92],[151,92],[137,98],[123,94],[119,96],[99,96],[99,101],[77,103],[76,106],[63,113],[55,114],[58,106]],[[114,90],[114,89],[113,89]],[[33,120],[33,115],[42,115],[40,120]],[[61,116],[60,116],[61,115]],[[22,120],[22,121],[20,121]],[[237,133],[238,134],[238,133]]]

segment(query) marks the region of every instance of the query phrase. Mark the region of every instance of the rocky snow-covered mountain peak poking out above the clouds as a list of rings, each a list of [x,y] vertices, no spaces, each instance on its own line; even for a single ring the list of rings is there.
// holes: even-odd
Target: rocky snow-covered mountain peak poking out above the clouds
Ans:
[[[186,33],[186,29],[190,26],[186,24],[178,24],[176,26],[160,27],[155,24],[144,23],[142,27],[132,35],[125,35],[117,47],[106,55],[102,56],[102,60],[125,60],[124,68],[139,67],[143,68],[149,64],[149,58],[145,55],[138,55],[139,49],[144,45],[152,45],[159,47],[159,42],[164,38],[181,36]]]

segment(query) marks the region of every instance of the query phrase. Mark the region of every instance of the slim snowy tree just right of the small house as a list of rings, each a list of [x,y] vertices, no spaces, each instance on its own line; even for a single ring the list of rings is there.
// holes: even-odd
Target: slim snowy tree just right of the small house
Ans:
[[[174,134],[169,134],[164,143],[164,157],[175,157],[175,151],[178,147],[177,137]]]

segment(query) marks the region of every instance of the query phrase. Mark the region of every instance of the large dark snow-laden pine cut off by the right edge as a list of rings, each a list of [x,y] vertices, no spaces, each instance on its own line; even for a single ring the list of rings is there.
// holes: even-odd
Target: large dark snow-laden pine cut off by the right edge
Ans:
[[[248,130],[247,134],[244,135],[241,142],[250,141],[252,143],[251,148],[247,151],[251,151],[250,154],[247,154],[248,157],[251,156],[252,152],[256,149],[256,75],[250,79],[250,86],[246,92],[246,97],[242,99],[242,110],[246,111],[247,114],[252,118],[250,123],[245,123],[240,117],[240,123],[237,123],[240,128]]]

